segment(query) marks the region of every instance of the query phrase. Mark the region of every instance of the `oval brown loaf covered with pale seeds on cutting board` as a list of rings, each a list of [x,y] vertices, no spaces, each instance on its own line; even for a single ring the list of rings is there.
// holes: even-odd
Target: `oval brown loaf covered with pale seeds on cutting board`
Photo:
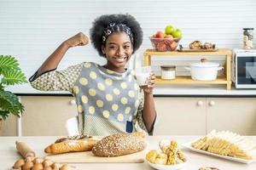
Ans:
[[[92,153],[95,156],[123,156],[144,150],[146,146],[144,133],[115,133],[97,142]]]

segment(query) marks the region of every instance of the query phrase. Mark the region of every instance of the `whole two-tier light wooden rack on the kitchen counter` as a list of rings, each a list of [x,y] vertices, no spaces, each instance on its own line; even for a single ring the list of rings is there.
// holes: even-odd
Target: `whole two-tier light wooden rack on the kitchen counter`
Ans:
[[[174,80],[163,80],[160,77],[156,77],[156,84],[225,84],[227,90],[231,89],[231,59],[232,50],[229,48],[219,48],[218,51],[214,52],[178,52],[178,51],[168,51],[168,52],[158,52],[154,49],[147,49],[144,52],[144,65],[151,65],[151,56],[166,56],[172,57],[177,55],[186,56],[225,56],[225,74],[224,76],[217,77],[214,81],[195,81],[191,77],[176,77]]]

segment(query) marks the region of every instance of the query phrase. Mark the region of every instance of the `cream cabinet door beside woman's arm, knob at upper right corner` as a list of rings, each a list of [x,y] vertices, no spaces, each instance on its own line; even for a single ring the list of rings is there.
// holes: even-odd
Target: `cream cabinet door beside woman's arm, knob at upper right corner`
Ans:
[[[154,135],[204,135],[207,132],[205,98],[154,98],[157,122]]]

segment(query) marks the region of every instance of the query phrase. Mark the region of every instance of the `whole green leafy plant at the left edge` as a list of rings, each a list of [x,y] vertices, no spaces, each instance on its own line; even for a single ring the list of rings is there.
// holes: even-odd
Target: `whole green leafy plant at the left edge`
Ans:
[[[4,88],[24,82],[27,82],[26,77],[20,70],[17,59],[10,55],[0,55],[0,125],[9,114],[20,117],[24,111],[18,97]]]

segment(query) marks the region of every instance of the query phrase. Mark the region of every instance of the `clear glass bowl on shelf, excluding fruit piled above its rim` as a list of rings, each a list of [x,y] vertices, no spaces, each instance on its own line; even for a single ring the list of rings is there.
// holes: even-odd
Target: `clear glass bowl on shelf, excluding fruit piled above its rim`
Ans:
[[[149,37],[156,51],[175,51],[181,38],[156,38]]]

